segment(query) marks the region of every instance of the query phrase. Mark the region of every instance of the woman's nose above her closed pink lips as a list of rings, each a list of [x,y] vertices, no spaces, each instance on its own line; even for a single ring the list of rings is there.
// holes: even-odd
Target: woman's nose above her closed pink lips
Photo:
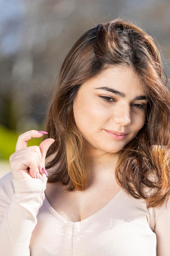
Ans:
[[[131,122],[130,119],[130,108],[129,107],[119,107],[119,109],[114,111],[114,122],[120,124],[121,126],[128,126]]]

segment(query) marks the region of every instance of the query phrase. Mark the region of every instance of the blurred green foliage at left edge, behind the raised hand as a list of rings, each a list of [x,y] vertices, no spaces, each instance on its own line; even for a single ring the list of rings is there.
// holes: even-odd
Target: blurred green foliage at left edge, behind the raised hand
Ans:
[[[0,159],[9,159],[15,152],[15,145],[19,134],[13,130],[8,130],[0,125]],[[33,138],[28,142],[28,146],[39,145],[42,138]]]

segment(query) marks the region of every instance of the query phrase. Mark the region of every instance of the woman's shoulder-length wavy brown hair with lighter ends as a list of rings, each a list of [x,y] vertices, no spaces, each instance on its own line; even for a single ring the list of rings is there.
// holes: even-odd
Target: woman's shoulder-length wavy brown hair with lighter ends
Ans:
[[[104,69],[127,65],[139,76],[148,98],[146,124],[119,157],[117,182],[148,207],[170,196],[170,94],[157,45],[145,31],[123,19],[88,30],[73,45],[61,67],[46,115],[46,130],[55,139],[48,182],[84,189],[89,169],[84,141],[75,126],[73,101],[79,87]]]

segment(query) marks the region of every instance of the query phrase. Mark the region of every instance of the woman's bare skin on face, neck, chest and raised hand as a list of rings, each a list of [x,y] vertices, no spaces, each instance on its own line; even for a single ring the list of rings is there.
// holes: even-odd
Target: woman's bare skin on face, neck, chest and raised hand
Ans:
[[[117,159],[122,148],[144,126],[146,105],[143,87],[130,67],[108,68],[79,88],[73,112],[85,139],[91,175],[83,191],[66,191],[60,183],[47,183],[46,198],[63,218],[84,220],[119,192],[121,188],[115,180]],[[14,179],[42,174],[46,152],[54,140],[46,139],[39,147],[26,147],[31,137],[41,136],[37,131],[29,131],[19,137],[11,156]]]

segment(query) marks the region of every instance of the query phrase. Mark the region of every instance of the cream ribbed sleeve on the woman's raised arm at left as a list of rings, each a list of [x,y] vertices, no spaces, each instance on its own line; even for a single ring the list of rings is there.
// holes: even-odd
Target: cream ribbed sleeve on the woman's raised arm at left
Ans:
[[[29,256],[31,234],[44,200],[46,180],[0,180],[0,251],[3,256]]]

